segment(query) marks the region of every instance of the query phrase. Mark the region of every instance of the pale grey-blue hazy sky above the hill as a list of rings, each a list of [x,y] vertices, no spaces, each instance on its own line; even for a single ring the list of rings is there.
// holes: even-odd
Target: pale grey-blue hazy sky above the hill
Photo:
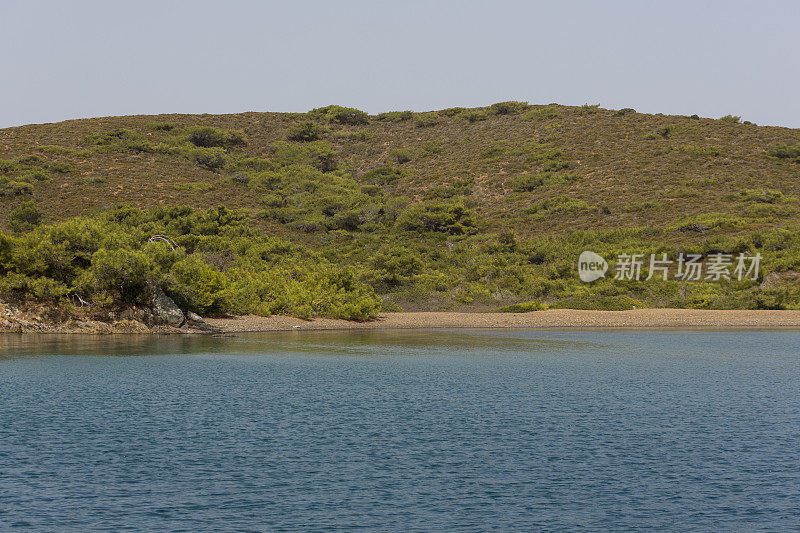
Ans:
[[[0,127],[502,100],[800,127],[800,2],[0,0]]]

